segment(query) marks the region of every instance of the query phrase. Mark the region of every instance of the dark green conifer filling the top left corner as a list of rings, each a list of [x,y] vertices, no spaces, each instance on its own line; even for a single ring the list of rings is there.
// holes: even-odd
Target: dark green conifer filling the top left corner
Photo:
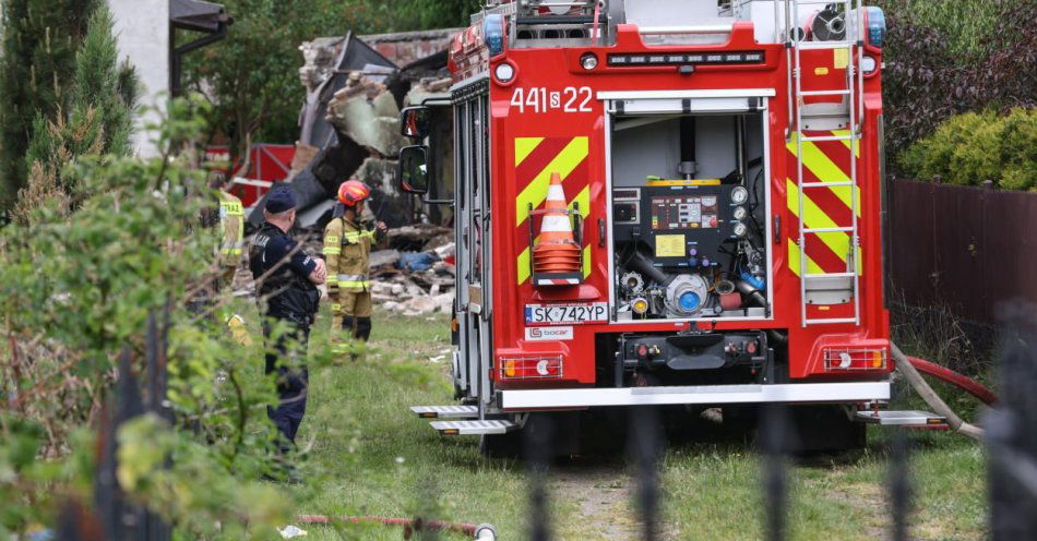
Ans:
[[[0,211],[26,183],[25,151],[36,118],[69,98],[75,51],[99,0],[4,0],[0,55]]]

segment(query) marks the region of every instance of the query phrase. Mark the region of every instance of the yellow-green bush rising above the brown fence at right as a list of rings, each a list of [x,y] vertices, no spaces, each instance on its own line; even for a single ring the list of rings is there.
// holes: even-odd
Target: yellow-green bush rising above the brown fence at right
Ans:
[[[1037,190],[1037,109],[952,117],[908,147],[901,166],[923,180],[959,185],[992,180],[1005,190]]]

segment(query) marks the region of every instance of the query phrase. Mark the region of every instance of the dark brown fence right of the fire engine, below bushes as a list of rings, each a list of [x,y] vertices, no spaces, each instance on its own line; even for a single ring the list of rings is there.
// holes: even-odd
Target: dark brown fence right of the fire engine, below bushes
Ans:
[[[1037,193],[895,180],[886,262],[898,294],[997,322],[999,302],[1037,302]]]

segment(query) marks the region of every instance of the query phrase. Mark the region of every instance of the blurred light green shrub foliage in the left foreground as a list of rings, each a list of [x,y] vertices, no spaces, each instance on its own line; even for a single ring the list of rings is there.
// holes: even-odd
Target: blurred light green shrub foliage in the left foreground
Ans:
[[[140,418],[119,432],[119,484],[178,539],[269,539],[286,498],[271,471],[273,382],[242,377],[262,345],[233,342],[192,304],[218,273],[198,218],[215,197],[192,168],[204,101],[175,101],[154,159],[82,157],[62,175],[71,213],[45,201],[0,229],[0,539],[90,501],[94,431],[123,347],[143,371],[150,313],[171,308],[168,397],[179,425]],[[187,152],[180,152],[187,148]],[[192,308],[193,306],[193,308]],[[201,311],[201,312],[200,312]],[[168,464],[168,467],[167,467]]]

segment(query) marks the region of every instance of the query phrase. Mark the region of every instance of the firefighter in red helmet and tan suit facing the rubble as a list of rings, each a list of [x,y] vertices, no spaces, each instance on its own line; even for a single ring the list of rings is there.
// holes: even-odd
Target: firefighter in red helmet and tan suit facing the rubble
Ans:
[[[327,296],[332,302],[332,339],[336,353],[349,352],[349,339],[367,341],[371,336],[371,280],[368,261],[371,244],[385,232],[385,224],[361,223],[363,204],[371,189],[359,180],[338,187],[338,215],[324,228],[324,257],[327,260]],[[341,215],[339,215],[341,212]],[[345,334],[347,339],[339,335]]]

